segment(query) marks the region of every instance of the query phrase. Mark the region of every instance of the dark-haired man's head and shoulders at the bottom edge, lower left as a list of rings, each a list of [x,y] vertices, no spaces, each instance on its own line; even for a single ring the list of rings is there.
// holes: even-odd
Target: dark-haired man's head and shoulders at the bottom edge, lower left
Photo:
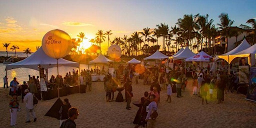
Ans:
[[[69,118],[61,123],[60,128],[75,128],[76,124],[74,119],[77,119],[77,116],[79,115],[78,109],[75,107],[70,107],[67,114]]]

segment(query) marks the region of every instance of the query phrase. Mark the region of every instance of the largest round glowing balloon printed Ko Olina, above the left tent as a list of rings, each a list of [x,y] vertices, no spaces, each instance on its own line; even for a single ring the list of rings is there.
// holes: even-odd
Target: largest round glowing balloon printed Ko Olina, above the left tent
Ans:
[[[42,49],[45,54],[52,58],[64,57],[70,52],[71,48],[71,37],[63,30],[50,30],[42,38]]]

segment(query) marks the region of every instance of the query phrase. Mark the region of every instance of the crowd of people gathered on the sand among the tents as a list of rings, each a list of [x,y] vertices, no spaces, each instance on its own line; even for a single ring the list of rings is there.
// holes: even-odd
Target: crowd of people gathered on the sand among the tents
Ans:
[[[191,71],[191,86],[193,86],[192,95],[201,97],[202,104],[204,104],[204,102],[207,104],[209,100],[213,99],[214,91],[216,91],[217,103],[221,103],[224,101],[224,93],[226,93],[226,91],[232,92],[235,88],[237,88],[238,71],[230,71],[228,74],[227,71],[223,71],[221,69],[213,72],[212,70],[200,69],[199,67],[191,68],[189,66],[185,68],[182,64],[180,64],[176,65],[173,70],[168,69],[166,72],[163,71],[159,73],[159,67],[153,66],[146,68],[142,74],[138,74],[134,71],[134,66],[128,65],[124,67],[123,65],[119,65],[118,68],[114,71],[114,75],[104,72],[105,77],[103,83],[106,92],[106,101],[113,101],[114,92],[117,88],[121,87],[125,89],[125,108],[129,110],[131,108],[131,98],[133,97],[132,84],[137,84],[138,78],[143,79],[143,84],[150,85],[150,87],[144,92],[143,97],[141,97],[139,100],[139,109],[136,112],[133,123],[136,124],[135,127],[139,127],[140,125],[144,127],[145,124],[147,124],[148,127],[154,127],[155,120],[152,119],[150,115],[154,111],[157,111],[158,105],[160,103],[161,90],[166,89],[167,95],[165,101],[169,103],[171,102],[171,95],[173,93],[176,93],[177,98],[182,97],[182,90],[185,91],[187,86],[187,77],[185,75],[186,71]],[[88,86],[88,91],[90,91],[91,73],[101,74],[102,71],[99,69],[83,69],[80,72],[79,79],[78,70],[73,70],[72,73],[73,74],[71,75],[70,71],[67,72],[63,80],[61,80],[61,75],[57,75],[56,78],[52,75],[48,82],[49,84],[54,83],[54,85],[59,84],[59,86],[65,86],[78,84],[79,81],[80,84],[85,84],[86,87]],[[135,80],[133,77],[135,77]],[[16,100],[17,94],[15,92],[17,91],[18,84],[19,83],[17,82],[16,78],[13,78],[13,80],[10,82],[10,93],[13,95],[13,98],[9,103],[12,126],[15,125],[17,116],[17,113],[13,111],[17,111],[18,109],[18,102]],[[37,93],[36,88],[38,88],[38,84],[38,76],[37,78],[35,78],[35,76],[29,76],[29,80],[27,82],[24,81],[21,85],[22,102],[26,103],[26,122],[30,122],[30,114],[33,117],[33,121],[36,121],[33,105],[31,105],[31,99],[33,98],[33,93]],[[206,98],[207,94],[209,94],[209,98]],[[73,125],[75,127],[73,120],[77,118],[78,110],[74,109],[72,113],[69,113],[69,108],[71,108],[71,105],[69,104],[68,99],[64,99],[63,104],[59,110],[60,118],[65,120],[61,120],[61,127],[66,127],[67,125]],[[69,118],[67,116],[69,116]]]

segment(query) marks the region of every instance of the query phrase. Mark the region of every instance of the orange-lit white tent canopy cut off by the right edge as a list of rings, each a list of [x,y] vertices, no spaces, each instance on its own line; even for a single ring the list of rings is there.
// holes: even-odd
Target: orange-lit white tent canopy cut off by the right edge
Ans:
[[[255,63],[255,54],[256,54],[256,44],[250,46],[249,48],[246,48],[240,52],[237,52],[235,54],[229,55],[229,60],[232,61],[235,57],[251,57],[252,59],[248,59],[248,63],[250,65],[254,65]],[[254,58],[254,59],[253,59]]]

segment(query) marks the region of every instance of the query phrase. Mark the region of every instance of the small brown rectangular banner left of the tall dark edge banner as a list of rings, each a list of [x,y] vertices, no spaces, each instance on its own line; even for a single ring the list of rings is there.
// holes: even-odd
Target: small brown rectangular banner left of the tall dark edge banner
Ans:
[[[249,66],[239,66],[239,83],[249,83]]]

